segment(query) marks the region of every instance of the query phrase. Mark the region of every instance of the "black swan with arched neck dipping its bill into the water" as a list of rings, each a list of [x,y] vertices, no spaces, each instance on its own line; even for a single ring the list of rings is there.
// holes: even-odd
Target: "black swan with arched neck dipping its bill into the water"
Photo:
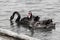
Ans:
[[[17,19],[15,20],[16,23],[30,25],[31,23],[37,22],[39,20],[39,17],[33,16],[32,13],[28,13],[29,16],[21,19],[21,15],[19,14],[19,12],[15,11],[10,17],[10,21],[14,19],[15,14],[18,16]]]

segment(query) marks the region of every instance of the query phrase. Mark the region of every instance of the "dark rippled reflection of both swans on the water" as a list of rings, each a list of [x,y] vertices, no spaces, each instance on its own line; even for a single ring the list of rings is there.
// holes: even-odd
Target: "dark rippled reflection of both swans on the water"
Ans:
[[[52,31],[52,29],[55,28],[55,27],[54,28],[49,28],[49,29],[42,28],[42,29],[35,29],[34,30],[33,28],[30,28],[28,25],[25,25],[24,26],[24,25],[21,25],[20,23],[16,23],[16,25],[14,25],[15,23],[13,21],[10,21],[10,23],[11,23],[10,24],[11,25],[11,28],[13,28],[12,31],[15,31],[16,30],[15,32],[17,32],[18,34],[19,33],[24,33],[24,34],[29,35],[29,36],[32,36],[32,37],[34,35],[36,35],[35,32],[36,33],[38,33],[38,32],[42,32],[42,33],[48,32],[48,33],[50,33]],[[47,36],[47,35],[45,35],[45,36]]]

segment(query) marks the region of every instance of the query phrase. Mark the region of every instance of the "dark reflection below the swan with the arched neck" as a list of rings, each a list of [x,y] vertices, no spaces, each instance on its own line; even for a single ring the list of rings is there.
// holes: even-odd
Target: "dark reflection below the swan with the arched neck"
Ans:
[[[32,28],[28,27],[27,25],[24,26],[24,25],[21,25],[19,23],[16,23],[16,25],[14,25],[13,21],[10,21],[10,23],[11,23],[10,24],[11,28],[13,28],[12,31],[16,30],[16,32],[18,34],[21,33],[22,31],[24,31],[24,33],[26,34],[26,32],[28,33],[28,31],[29,31],[30,32],[30,36],[33,36],[34,30]],[[15,29],[15,26],[16,26],[16,29]],[[20,28],[21,28],[22,31],[20,30]],[[26,35],[28,35],[28,34],[26,34]]]

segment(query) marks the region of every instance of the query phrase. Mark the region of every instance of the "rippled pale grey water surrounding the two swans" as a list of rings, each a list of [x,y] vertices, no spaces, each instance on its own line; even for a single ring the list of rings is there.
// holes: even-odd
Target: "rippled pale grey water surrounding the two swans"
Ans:
[[[56,23],[56,29],[30,31],[27,28],[18,27],[16,23],[10,25],[9,18],[14,11],[18,11],[22,17],[25,17],[29,10],[33,12],[33,15],[40,16],[41,20],[52,18]],[[60,0],[0,0],[0,28],[41,40],[60,40]]]

